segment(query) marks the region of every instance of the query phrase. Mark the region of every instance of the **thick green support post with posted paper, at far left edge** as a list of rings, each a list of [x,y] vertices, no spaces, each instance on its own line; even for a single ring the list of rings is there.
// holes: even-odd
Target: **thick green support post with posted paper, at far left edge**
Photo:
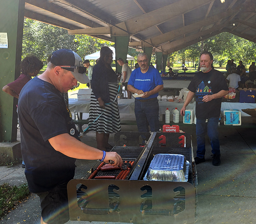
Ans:
[[[2,91],[20,76],[25,0],[1,0],[0,32],[7,33],[8,48],[0,48],[0,142],[17,140],[18,100]]]

